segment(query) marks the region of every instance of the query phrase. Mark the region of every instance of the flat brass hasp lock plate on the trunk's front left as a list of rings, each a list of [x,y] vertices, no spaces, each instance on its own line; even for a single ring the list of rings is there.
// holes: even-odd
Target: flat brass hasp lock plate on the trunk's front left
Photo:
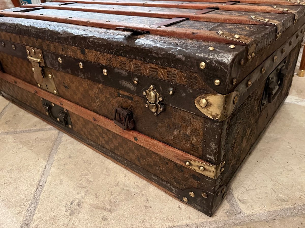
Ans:
[[[48,92],[58,94],[52,72],[43,68],[45,66],[45,61],[43,59],[42,51],[29,46],[26,46],[26,50],[27,59],[32,64],[32,71],[38,87],[41,87]]]

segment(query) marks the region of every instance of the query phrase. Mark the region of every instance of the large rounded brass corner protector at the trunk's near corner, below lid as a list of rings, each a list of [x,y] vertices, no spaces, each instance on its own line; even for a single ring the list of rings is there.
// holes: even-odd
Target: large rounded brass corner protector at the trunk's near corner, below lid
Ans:
[[[231,92],[227,95],[204,94],[195,99],[195,105],[200,112],[214,120],[223,121],[227,119],[238,100],[239,93]]]

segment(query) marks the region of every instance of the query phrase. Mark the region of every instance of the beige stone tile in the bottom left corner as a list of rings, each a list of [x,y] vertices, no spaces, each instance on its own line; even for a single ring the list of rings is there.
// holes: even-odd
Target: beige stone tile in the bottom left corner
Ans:
[[[0,136],[0,227],[22,223],[56,137],[56,131]]]

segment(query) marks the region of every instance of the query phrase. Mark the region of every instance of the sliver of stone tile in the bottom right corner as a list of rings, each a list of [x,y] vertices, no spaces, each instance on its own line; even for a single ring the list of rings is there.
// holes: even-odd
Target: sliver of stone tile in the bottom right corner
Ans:
[[[303,228],[305,227],[305,215],[274,219],[270,221],[249,223],[243,226],[230,226],[227,228]]]

